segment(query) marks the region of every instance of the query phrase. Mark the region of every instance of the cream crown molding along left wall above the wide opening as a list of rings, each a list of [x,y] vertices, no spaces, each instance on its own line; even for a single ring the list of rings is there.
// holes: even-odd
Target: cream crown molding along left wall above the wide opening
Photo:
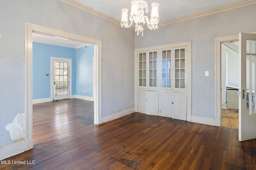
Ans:
[[[107,16],[105,14],[102,14],[101,12],[98,12],[98,11],[92,9],[92,8],[89,8],[88,6],[84,6],[83,4],[80,4],[79,2],[76,2],[74,0],[61,0],[61,1],[65,2],[67,4],[70,4],[72,6],[75,6],[77,8],[80,8],[81,10],[84,10],[84,11],[89,12],[91,14],[94,14],[94,15],[100,17],[100,18],[103,18],[105,20],[108,20],[108,21],[111,21],[113,23],[116,23],[116,24],[120,25],[120,21],[118,21],[118,20],[116,20],[116,19],[114,19],[112,17],[109,17],[109,16]],[[135,31],[134,27],[129,27],[128,29],[130,29],[132,31]]]

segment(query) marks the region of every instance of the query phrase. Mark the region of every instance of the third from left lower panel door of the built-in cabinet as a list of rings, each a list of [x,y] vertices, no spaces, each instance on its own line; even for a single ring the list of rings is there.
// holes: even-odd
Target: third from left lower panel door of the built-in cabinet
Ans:
[[[172,117],[172,93],[160,92],[159,95],[159,115],[164,117]]]

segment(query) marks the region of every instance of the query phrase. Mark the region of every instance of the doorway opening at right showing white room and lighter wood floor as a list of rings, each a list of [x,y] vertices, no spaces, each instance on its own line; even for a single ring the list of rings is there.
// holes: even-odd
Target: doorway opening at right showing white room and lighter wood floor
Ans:
[[[239,43],[221,43],[221,126],[238,129]]]

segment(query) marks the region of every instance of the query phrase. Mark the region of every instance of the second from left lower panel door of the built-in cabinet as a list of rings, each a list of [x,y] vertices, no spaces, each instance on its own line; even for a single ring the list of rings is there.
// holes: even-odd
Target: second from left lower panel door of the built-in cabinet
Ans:
[[[158,115],[158,92],[148,91],[147,111],[148,115]]]

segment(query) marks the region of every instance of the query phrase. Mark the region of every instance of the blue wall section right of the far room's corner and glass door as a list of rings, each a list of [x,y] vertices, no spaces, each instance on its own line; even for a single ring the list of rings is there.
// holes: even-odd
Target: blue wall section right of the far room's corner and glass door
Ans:
[[[94,45],[76,49],[76,95],[93,97]]]

